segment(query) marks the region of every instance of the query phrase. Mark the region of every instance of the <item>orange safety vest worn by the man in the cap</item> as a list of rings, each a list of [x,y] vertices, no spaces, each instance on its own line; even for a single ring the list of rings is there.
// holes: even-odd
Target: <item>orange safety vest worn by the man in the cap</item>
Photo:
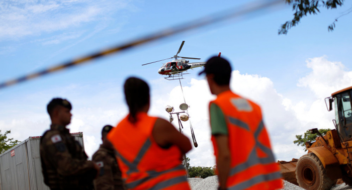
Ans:
[[[228,189],[278,189],[283,187],[280,167],[275,162],[268,132],[263,124],[260,107],[231,90],[218,94],[215,101],[224,113],[231,170]],[[211,140],[218,155],[215,137]]]

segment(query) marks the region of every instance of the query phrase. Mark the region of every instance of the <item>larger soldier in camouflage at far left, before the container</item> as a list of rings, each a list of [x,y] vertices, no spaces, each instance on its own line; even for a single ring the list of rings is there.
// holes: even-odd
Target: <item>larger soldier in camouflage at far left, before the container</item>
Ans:
[[[44,182],[51,190],[93,189],[93,179],[99,172],[66,129],[71,122],[71,109],[71,104],[60,98],[47,106],[51,126],[41,138],[40,158]]]

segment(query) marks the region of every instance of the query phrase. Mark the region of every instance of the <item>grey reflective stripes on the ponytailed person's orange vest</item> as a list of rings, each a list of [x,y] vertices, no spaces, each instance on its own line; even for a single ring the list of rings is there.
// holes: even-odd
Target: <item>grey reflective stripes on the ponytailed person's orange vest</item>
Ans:
[[[148,138],[145,143],[143,144],[143,146],[141,147],[141,149],[139,150],[136,158],[133,160],[133,162],[129,162],[126,158],[124,158],[121,154],[118,154],[118,157],[121,159],[121,161],[126,164],[129,168],[129,170],[126,172],[128,175],[133,173],[133,172],[138,172],[137,169],[137,165],[139,163],[139,161],[143,158],[144,154],[147,152],[147,150],[149,149],[151,145],[151,141]],[[147,177],[132,181],[132,182],[128,182],[126,183],[127,188],[129,189],[133,189],[135,187],[137,187],[138,185],[144,183],[145,181],[148,181],[149,179],[155,178],[161,174],[167,173],[167,172],[171,172],[171,171],[184,171],[185,168],[182,164],[178,165],[177,167],[168,169],[168,170],[164,170],[164,171],[146,171],[146,173],[148,174]],[[167,179],[165,181],[159,182],[156,185],[154,185],[152,188],[149,188],[150,190],[152,189],[162,189],[162,188],[166,188],[168,186],[174,185],[174,184],[178,184],[181,182],[187,182],[187,178],[186,176],[176,176],[170,179]]]

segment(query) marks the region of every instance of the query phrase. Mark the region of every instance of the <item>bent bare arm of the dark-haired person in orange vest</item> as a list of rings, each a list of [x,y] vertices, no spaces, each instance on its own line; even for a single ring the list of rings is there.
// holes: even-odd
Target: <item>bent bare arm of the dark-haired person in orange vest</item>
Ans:
[[[158,118],[156,120],[152,135],[155,142],[161,147],[176,145],[182,153],[186,153],[192,149],[190,139],[164,119]]]

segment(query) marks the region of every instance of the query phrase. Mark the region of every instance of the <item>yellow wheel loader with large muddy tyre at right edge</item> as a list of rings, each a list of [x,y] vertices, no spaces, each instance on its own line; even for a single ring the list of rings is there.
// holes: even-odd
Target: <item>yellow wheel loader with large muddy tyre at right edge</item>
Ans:
[[[308,153],[300,159],[278,161],[285,180],[305,189],[330,189],[337,179],[352,185],[352,86],[336,91],[325,99],[328,111],[335,110],[335,129],[306,142]]]

